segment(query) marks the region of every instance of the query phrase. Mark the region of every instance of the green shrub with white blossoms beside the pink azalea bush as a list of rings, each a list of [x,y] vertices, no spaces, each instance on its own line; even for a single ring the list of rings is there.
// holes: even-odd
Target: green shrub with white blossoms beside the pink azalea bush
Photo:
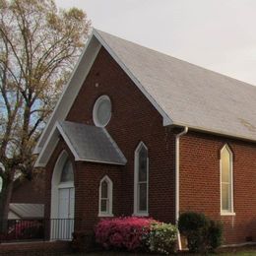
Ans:
[[[177,228],[172,224],[152,223],[146,236],[146,244],[155,253],[173,253],[176,241]]]

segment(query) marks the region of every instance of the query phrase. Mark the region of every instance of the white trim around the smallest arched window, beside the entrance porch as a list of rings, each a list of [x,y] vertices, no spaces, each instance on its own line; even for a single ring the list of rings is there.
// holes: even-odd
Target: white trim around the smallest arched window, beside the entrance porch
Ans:
[[[103,181],[107,182],[107,193],[109,197],[109,211],[101,212],[100,206],[101,206],[101,184]],[[113,182],[112,180],[107,176],[103,176],[99,182],[99,188],[98,188],[98,217],[113,217],[112,214],[112,204],[113,204]]]

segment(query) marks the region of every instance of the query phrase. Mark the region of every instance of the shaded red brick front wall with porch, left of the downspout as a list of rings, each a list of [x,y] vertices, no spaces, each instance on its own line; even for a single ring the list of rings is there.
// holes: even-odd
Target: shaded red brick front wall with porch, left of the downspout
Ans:
[[[98,186],[107,174],[113,181],[113,214],[133,214],[134,151],[140,141],[149,149],[149,212],[160,221],[174,220],[174,137],[162,127],[159,112],[143,96],[133,82],[102,48],[90,74],[76,98],[67,120],[94,125],[93,107],[96,98],[107,95],[112,102],[112,117],[106,126],[126,159],[125,166],[74,162],[75,215],[83,226],[92,229],[98,214]],[[46,216],[49,216],[51,174],[60,152],[59,143],[47,164]]]

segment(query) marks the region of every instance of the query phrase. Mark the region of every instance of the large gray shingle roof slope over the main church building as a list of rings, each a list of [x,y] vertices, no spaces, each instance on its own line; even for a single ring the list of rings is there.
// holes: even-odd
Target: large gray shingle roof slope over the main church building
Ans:
[[[256,88],[96,31],[173,124],[256,141]]]

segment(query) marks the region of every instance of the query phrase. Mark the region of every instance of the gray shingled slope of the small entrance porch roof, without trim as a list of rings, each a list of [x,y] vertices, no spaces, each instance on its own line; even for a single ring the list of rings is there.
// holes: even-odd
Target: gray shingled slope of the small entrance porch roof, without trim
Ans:
[[[126,163],[124,155],[104,128],[69,121],[59,122],[59,126],[62,129],[61,134],[75,150],[78,159]]]

